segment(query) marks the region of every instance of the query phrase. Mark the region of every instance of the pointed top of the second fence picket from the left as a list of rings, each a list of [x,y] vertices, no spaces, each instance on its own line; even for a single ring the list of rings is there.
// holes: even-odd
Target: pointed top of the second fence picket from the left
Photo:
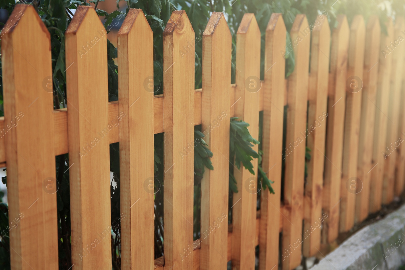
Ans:
[[[65,34],[77,34],[81,25],[86,25],[87,23],[90,23],[92,28],[97,28],[96,30],[105,30],[100,18],[92,6],[78,6]]]

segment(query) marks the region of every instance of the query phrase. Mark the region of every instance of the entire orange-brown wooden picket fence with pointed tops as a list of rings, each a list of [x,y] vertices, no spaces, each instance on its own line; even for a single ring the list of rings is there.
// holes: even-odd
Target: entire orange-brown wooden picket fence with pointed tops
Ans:
[[[8,23],[0,162],[7,166],[9,219],[20,217],[10,230],[12,269],[58,269],[56,194],[47,185],[55,188],[55,155],[65,153],[73,269],[111,269],[109,144],[118,141],[125,270],[216,270],[228,261],[253,270],[257,245],[261,270],[291,270],[301,255],[319,254],[321,244],[403,191],[403,18],[388,20],[381,32],[375,16],[365,25],[358,15],[349,26],[339,15],[331,33],[324,15],[310,23],[297,15],[290,32],[296,66],[285,80],[286,28],[273,13],[260,81],[260,31],[254,14],[245,14],[231,85],[231,35],[224,15],[213,13],[202,40],[203,89],[194,90],[194,31],[185,12],[174,11],[163,33],[164,95],[153,96],[153,33],[143,12],[131,9],[118,34],[119,101],[108,102],[107,58],[100,57],[106,32],[94,9],[79,6],[66,30],[67,110],[53,110],[50,37],[34,8],[17,5]],[[259,111],[262,166],[275,194],[262,191],[256,211],[257,187],[246,188],[256,176],[235,172],[239,193],[228,225],[230,117],[250,123],[258,138]],[[201,183],[204,237],[193,242],[194,151],[179,153],[194,143],[199,124],[209,130],[215,169]],[[154,260],[154,197],[144,187],[153,179],[153,134],[161,132],[164,259]],[[305,182],[306,144],[312,158]]]

